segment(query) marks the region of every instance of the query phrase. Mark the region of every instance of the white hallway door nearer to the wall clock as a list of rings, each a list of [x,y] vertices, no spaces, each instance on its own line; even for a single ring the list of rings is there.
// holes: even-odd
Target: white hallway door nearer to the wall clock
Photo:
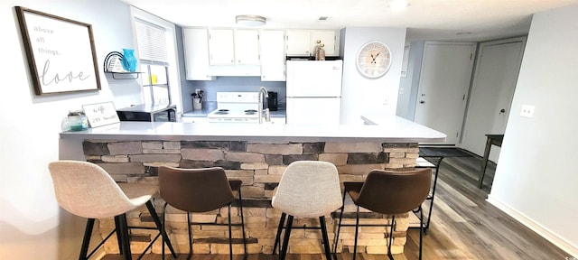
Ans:
[[[460,141],[475,50],[474,42],[424,43],[414,121],[447,135],[443,144]]]

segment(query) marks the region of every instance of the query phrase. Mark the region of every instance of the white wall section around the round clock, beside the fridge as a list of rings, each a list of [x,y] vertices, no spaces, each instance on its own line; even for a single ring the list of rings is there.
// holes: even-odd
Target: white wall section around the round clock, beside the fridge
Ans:
[[[341,30],[341,124],[363,124],[360,116],[365,113],[396,115],[405,39],[406,28],[348,27]],[[355,64],[359,48],[370,41],[383,42],[391,51],[391,67],[386,75],[378,79],[362,76]]]

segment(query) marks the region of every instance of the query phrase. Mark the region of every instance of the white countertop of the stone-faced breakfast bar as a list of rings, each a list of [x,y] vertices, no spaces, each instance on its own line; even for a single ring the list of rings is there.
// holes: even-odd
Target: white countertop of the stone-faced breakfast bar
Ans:
[[[377,120],[377,118],[374,118]],[[380,125],[282,125],[241,123],[120,122],[79,132],[63,139],[258,141],[258,142],[381,142],[437,143],[446,135],[398,116]]]

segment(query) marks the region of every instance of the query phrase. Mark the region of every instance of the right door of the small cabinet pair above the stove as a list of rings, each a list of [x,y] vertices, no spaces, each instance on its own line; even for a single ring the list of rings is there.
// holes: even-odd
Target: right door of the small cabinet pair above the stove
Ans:
[[[235,31],[235,62],[237,64],[259,64],[259,32],[256,30]]]

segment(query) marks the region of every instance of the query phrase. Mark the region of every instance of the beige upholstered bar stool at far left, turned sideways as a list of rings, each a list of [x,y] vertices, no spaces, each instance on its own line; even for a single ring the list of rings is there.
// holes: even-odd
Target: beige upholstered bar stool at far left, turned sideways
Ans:
[[[117,183],[100,166],[95,163],[80,161],[57,161],[49,163],[54,193],[59,205],[70,213],[89,218],[82,240],[79,259],[89,259],[109,237],[117,232],[118,247],[125,259],[132,259],[128,231],[131,228],[126,224],[126,212],[146,205],[154,219],[159,234],[152,239],[144,249],[139,259],[153,246],[159,236],[166,237],[161,220],[156,215],[151,199],[157,193],[154,185],[136,183]],[[89,254],[90,237],[95,218],[115,218],[116,228],[103,239]],[[167,246],[176,257],[171,241],[166,237]],[[164,245],[164,244],[163,244]],[[164,246],[163,246],[164,248]]]

